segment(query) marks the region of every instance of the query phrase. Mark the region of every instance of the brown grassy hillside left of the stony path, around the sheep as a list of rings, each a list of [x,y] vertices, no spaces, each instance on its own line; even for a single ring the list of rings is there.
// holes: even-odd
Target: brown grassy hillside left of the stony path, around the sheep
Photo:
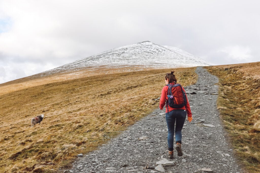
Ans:
[[[174,69],[178,82],[195,84],[195,69]],[[0,172],[51,172],[69,165],[157,108],[170,70],[81,77],[0,95]],[[41,125],[31,128],[31,118],[40,114]]]

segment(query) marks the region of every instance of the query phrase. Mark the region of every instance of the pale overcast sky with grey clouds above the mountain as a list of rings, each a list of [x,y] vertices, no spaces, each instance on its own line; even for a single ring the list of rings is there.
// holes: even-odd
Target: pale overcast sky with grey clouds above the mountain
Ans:
[[[216,65],[260,61],[260,1],[0,0],[0,83],[151,41]]]

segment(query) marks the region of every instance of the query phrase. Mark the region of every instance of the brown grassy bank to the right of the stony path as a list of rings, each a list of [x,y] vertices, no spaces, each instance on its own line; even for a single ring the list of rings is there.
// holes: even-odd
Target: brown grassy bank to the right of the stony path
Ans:
[[[205,68],[219,77],[217,105],[236,155],[260,172],[260,62]]]

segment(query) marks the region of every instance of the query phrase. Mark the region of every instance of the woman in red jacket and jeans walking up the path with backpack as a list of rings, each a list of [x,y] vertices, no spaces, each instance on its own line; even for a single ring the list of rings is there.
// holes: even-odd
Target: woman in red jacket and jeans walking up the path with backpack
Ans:
[[[176,122],[176,127],[175,127],[175,140],[176,140],[176,150],[178,152],[178,156],[182,156],[183,152],[181,151],[181,130],[183,128],[184,122],[185,122],[185,118],[186,118],[186,114],[188,114],[188,121],[191,122],[192,120],[192,113],[191,113],[191,108],[190,108],[190,104],[187,98],[187,95],[184,93],[183,97],[180,98],[179,102],[182,102],[183,104],[181,105],[177,105],[177,106],[173,106],[171,104],[179,104],[178,103],[178,96],[174,96],[176,95],[175,93],[172,92],[177,92],[174,89],[177,89],[177,87],[172,87],[172,85],[176,84],[177,80],[175,78],[175,75],[173,74],[175,71],[171,71],[171,73],[166,73],[165,75],[165,86],[162,88],[162,94],[161,94],[161,99],[160,99],[160,109],[162,110],[165,102],[166,102],[166,114],[165,114],[165,118],[166,118],[166,122],[167,122],[167,127],[168,127],[168,137],[167,137],[167,141],[168,141],[168,157],[169,158],[173,158],[173,136],[174,136],[174,125]],[[178,85],[178,84],[177,84]],[[176,86],[177,86],[176,85]],[[169,90],[169,93],[172,95],[169,95],[168,93],[168,88],[171,87],[174,89],[171,89],[171,91]],[[184,88],[179,84],[178,86],[178,91],[179,93],[183,93]],[[182,90],[181,90],[182,88]],[[185,91],[184,91],[185,92]],[[177,94],[177,95],[181,95],[181,94]],[[168,99],[169,98],[169,99]],[[177,100],[177,101],[176,101]],[[181,101],[183,100],[183,101]],[[185,100],[185,101],[184,101]],[[170,101],[170,103],[169,103]],[[171,106],[169,106],[169,104]],[[184,106],[183,106],[184,105]],[[177,107],[177,108],[174,108]]]

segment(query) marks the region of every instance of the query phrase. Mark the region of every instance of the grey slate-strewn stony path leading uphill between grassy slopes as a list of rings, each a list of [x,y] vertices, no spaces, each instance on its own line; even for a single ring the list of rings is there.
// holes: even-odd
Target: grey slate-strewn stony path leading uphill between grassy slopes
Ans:
[[[159,172],[157,162],[168,160],[165,172],[242,172],[220,122],[214,85],[218,79],[202,67],[196,73],[196,85],[185,87],[193,120],[186,121],[182,131],[183,156],[174,150],[175,158],[168,159],[165,110],[156,109],[98,150],[79,157],[72,169],[61,171]]]

